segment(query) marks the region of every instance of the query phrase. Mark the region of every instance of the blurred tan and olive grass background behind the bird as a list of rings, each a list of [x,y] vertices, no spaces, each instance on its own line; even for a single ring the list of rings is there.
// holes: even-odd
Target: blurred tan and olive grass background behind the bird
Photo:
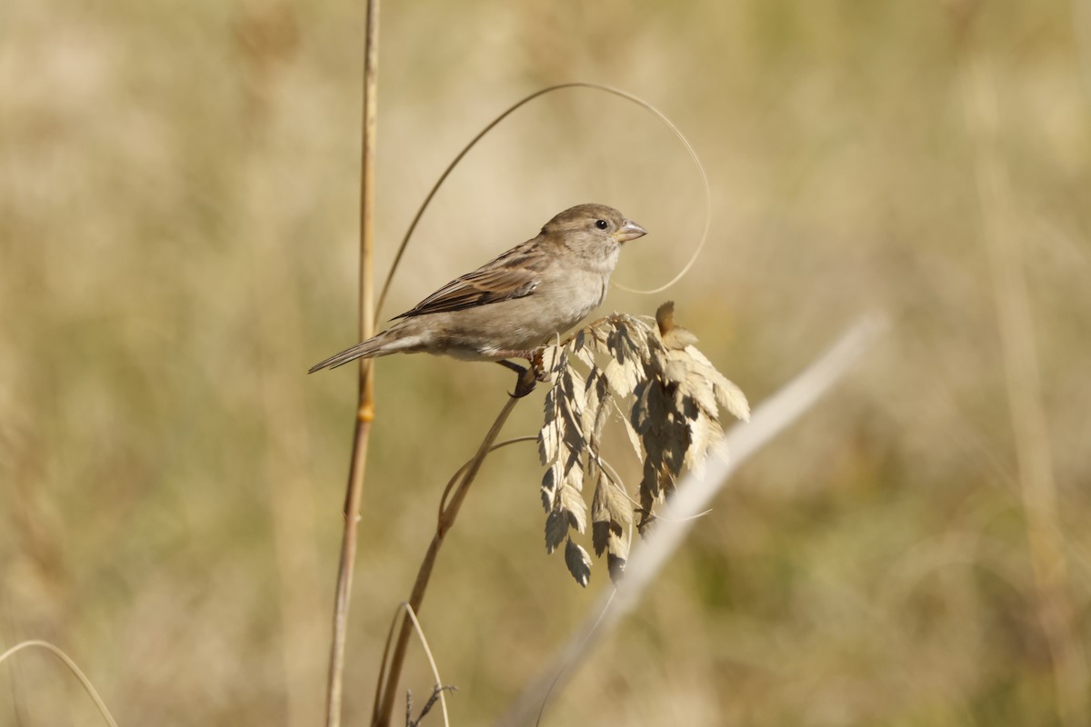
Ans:
[[[304,372],[356,342],[361,5],[0,8],[0,644],[65,649],[122,724],[321,715],[355,376]],[[596,81],[684,130],[715,205],[691,275],[608,310],[673,298],[752,402],[860,312],[894,319],[745,467],[547,724],[1064,724],[1058,671],[1087,691],[1091,635],[1087,5],[384,3],[376,269],[481,125]],[[589,201],[650,231],[615,280],[656,286],[700,199],[649,114],[550,96],[456,171],[384,313]],[[990,250],[1027,284],[1031,336],[1008,348]],[[1040,383],[1011,367],[1028,354]],[[513,384],[427,356],[377,377],[350,725],[443,483]],[[1022,395],[1043,414],[1029,437]],[[535,433],[540,398],[508,435]],[[1055,482],[1044,592],[1027,458]],[[601,565],[585,592],[546,556],[539,480],[532,446],[497,452],[441,555],[422,616],[455,724],[499,714],[609,587]],[[422,659],[408,677],[419,704]],[[0,666],[0,724],[98,723],[24,653]]]

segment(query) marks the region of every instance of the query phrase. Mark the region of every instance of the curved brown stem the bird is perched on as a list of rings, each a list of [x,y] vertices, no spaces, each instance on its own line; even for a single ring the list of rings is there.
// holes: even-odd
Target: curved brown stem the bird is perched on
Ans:
[[[532,372],[528,371],[520,377],[520,384],[524,386],[532,381]],[[516,390],[518,391],[518,389]],[[442,509],[440,510],[439,522],[435,525],[435,535],[432,536],[432,543],[428,546],[428,553],[424,554],[424,559],[420,564],[420,569],[417,571],[417,582],[413,583],[412,594],[409,596],[409,607],[415,614],[420,614],[420,606],[424,601],[424,591],[428,589],[429,579],[432,577],[432,568],[435,566],[435,559],[440,554],[440,546],[443,545],[443,538],[446,536],[447,531],[455,524],[455,518],[458,517],[458,510],[463,505],[463,500],[466,499],[466,494],[477,477],[478,471],[481,469],[481,463],[484,462],[485,456],[492,450],[493,443],[500,436],[500,431],[503,428],[512,410],[515,409],[518,400],[517,397],[509,397],[507,399],[504,408],[496,415],[496,421],[492,423],[489,433],[481,440],[481,446],[478,447],[473,459],[452,477],[451,484],[457,481],[458,486],[455,488],[451,499],[446,501],[445,507],[441,504]],[[449,490],[451,485],[448,484],[445,492]],[[394,714],[394,703],[398,698],[398,681],[401,678],[401,667],[405,664],[406,650],[409,645],[411,630],[412,623],[408,618],[403,618],[401,629],[398,631],[398,640],[394,646],[394,655],[391,657],[389,668],[385,670],[385,679],[383,675],[380,676],[376,694],[381,693],[381,699],[376,699],[375,701],[371,716],[372,727],[389,727],[391,716]]]

